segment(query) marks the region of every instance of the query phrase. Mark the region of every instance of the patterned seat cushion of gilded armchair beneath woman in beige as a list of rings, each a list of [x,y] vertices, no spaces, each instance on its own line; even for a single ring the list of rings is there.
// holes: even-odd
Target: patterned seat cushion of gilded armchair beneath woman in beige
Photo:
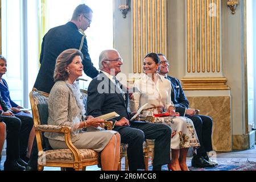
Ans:
[[[82,160],[98,160],[98,153],[91,149],[79,149]],[[48,150],[39,155],[38,163],[45,162],[73,162],[73,154],[69,149]]]

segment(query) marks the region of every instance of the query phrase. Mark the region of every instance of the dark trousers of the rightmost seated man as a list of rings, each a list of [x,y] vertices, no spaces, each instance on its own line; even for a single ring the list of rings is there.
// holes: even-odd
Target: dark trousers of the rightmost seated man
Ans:
[[[200,147],[197,148],[197,156],[207,155],[207,152],[212,151],[212,118],[207,115],[186,116],[193,121],[196,129],[196,134],[200,142]]]

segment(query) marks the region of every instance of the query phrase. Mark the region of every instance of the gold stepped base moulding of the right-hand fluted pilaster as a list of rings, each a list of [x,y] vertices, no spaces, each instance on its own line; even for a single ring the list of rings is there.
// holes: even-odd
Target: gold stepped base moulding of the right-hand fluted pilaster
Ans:
[[[182,78],[183,90],[230,90],[226,78]]]

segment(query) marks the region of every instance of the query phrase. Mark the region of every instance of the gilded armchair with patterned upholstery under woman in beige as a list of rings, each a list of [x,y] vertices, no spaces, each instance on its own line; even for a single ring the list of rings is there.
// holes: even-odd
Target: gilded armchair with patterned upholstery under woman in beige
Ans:
[[[42,171],[44,166],[85,169],[86,166],[98,164],[98,153],[90,149],[77,149],[71,142],[71,127],[47,125],[48,119],[48,96],[35,88],[30,92],[30,102],[36,131],[36,142],[38,145],[38,170]],[[44,125],[42,125],[44,124]],[[44,132],[63,133],[68,149],[52,150],[48,139],[43,136]],[[48,144],[48,146],[47,146]],[[48,148],[46,150],[45,148]]]

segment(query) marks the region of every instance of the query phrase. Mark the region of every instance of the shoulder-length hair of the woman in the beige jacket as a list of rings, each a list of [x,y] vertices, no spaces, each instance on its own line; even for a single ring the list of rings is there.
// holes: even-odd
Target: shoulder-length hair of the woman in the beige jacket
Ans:
[[[55,71],[54,71],[54,81],[65,81],[68,79],[68,72],[66,68],[69,64],[72,63],[74,57],[80,56],[81,59],[84,59],[82,52],[78,49],[67,49],[60,53],[56,59]]]

